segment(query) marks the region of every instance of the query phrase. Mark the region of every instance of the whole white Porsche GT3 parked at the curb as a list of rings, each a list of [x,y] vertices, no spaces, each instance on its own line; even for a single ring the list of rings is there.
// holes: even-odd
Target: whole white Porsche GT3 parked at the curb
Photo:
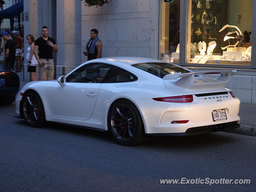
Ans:
[[[240,100],[224,85],[233,70],[192,72],[150,58],[90,60],[58,80],[27,83],[16,117],[109,130],[122,145],[149,135],[192,135],[239,126]]]

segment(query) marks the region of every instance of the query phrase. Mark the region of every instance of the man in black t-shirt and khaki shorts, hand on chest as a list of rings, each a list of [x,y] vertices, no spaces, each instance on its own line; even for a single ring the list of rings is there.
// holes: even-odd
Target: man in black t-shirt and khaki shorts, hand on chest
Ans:
[[[34,44],[34,55],[39,64],[40,78],[42,81],[53,80],[54,61],[52,51],[58,52],[55,40],[50,38],[48,33],[48,28],[43,26],[42,36],[38,38]]]

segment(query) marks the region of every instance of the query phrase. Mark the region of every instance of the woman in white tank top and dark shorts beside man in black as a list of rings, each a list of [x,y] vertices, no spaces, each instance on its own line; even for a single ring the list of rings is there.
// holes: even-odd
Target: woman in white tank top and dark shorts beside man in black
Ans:
[[[27,49],[27,55],[26,60],[28,61],[28,72],[30,74],[30,78],[32,81],[37,81],[37,75],[36,75],[36,66],[38,65],[38,61],[36,60],[34,56],[34,37],[29,34],[27,35],[27,41],[30,44],[30,46]]]

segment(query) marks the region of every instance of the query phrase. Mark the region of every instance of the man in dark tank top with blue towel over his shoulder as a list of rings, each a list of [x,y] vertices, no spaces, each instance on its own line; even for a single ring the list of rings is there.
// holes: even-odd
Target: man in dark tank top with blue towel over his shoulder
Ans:
[[[83,52],[85,56],[88,56],[88,61],[101,58],[102,52],[102,42],[98,38],[98,30],[92,29],[90,37],[86,44],[86,52]]]

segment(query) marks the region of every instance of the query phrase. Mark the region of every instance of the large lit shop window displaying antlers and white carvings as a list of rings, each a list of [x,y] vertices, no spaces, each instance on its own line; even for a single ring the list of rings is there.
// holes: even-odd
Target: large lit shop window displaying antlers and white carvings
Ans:
[[[187,63],[251,64],[253,0],[188,0]]]

